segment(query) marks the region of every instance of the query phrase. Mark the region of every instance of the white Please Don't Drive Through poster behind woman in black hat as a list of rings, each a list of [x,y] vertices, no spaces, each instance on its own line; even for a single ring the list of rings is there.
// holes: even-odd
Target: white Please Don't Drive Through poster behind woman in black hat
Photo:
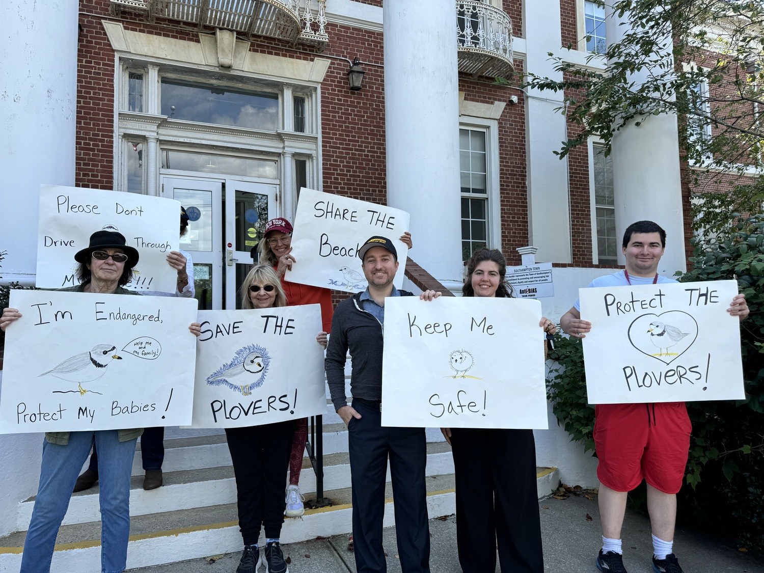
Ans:
[[[163,197],[40,185],[37,228],[37,287],[75,286],[74,255],[95,231],[118,231],[138,249],[135,280],[129,290],[174,293],[178,275],[167,253],[180,244],[180,202]]]

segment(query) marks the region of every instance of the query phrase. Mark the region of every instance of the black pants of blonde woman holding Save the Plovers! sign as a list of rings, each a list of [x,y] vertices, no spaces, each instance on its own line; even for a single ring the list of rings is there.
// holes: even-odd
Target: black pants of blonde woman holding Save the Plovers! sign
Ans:
[[[244,545],[254,545],[264,526],[277,539],[284,523],[286,468],[292,452],[294,422],[226,428],[234,464],[239,531]]]

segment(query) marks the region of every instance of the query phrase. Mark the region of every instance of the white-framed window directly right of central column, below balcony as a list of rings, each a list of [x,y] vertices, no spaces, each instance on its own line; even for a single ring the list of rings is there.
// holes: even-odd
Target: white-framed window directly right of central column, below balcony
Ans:
[[[459,129],[461,258],[478,248],[500,248],[498,141],[494,120],[465,118]]]

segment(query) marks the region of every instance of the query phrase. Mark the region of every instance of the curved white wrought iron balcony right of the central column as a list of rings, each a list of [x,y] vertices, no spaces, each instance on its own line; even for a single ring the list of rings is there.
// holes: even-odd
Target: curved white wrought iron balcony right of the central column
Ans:
[[[495,78],[514,72],[512,21],[506,12],[479,0],[457,0],[459,71]]]

